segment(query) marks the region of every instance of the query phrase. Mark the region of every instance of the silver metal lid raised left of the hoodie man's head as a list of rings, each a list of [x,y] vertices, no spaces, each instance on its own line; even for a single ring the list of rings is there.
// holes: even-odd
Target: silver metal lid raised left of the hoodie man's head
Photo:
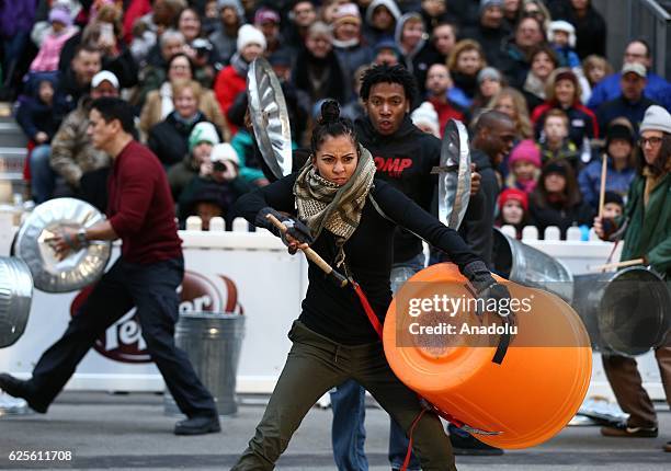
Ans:
[[[261,156],[273,175],[282,179],[292,173],[292,129],[277,76],[262,57],[249,66],[247,96]]]

